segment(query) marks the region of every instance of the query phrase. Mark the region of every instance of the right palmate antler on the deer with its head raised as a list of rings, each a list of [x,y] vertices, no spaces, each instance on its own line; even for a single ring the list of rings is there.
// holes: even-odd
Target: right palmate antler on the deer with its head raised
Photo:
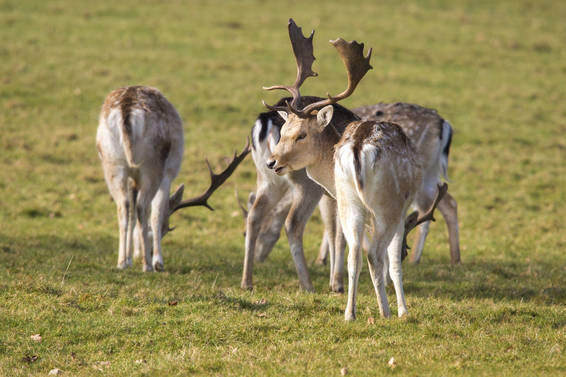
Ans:
[[[321,107],[332,105],[340,101],[341,99],[350,97],[356,86],[366,75],[367,71],[372,70],[374,67],[370,66],[371,58],[371,47],[367,51],[367,57],[363,57],[363,43],[358,43],[356,41],[346,42],[342,38],[338,38],[336,41],[330,41],[333,46],[336,47],[344,66],[346,66],[346,72],[348,72],[348,88],[335,97],[332,97],[327,93],[328,99],[323,101],[311,103],[301,110],[300,118],[307,118],[312,111],[320,109]]]

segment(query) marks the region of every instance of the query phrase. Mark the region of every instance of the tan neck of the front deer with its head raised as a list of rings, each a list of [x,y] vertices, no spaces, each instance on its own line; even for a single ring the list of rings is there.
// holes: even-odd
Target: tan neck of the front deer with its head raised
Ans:
[[[332,125],[328,125],[319,137],[318,156],[314,163],[307,166],[307,175],[336,198],[334,146],[340,141],[340,135]]]

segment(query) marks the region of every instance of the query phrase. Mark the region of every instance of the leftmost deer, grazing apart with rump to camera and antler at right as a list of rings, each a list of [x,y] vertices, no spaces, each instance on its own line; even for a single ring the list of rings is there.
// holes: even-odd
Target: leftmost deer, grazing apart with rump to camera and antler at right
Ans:
[[[155,88],[128,86],[106,97],[96,135],[104,177],[118,209],[118,268],[142,257],[143,271],[162,271],[161,239],[175,229],[169,218],[177,210],[205,206],[208,198],[250,153],[249,139],[241,154],[226,159],[228,167],[214,174],[205,158],[211,184],[204,194],[182,200],[185,185],[169,196],[183,157],[183,126],[174,106]],[[135,232],[134,232],[135,228]]]

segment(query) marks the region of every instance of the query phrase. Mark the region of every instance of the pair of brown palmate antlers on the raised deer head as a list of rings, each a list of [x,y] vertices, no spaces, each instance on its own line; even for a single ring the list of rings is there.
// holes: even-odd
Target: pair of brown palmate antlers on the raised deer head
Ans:
[[[316,59],[312,54],[312,36],[314,36],[314,31],[312,31],[310,37],[305,38],[301,28],[295,24],[293,19],[289,19],[288,29],[291,45],[293,46],[293,53],[295,54],[295,61],[297,62],[297,80],[295,80],[292,86],[276,85],[270,86],[269,88],[264,87],[263,89],[285,89],[293,94],[293,101],[291,101],[291,103],[287,102],[288,107],[273,107],[263,101],[263,105],[269,110],[286,111],[288,114],[293,112],[293,114],[297,115],[299,118],[308,118],[312,111],[350,97],[363,76],[366,75],[367,71],[373,68],[370,66],[371,48],[367,51],[367,57],[364,58],[363,43],[358,44],[356,41],[346,42],[342,38],[338,38],[336,41],[330,41],[331,44],[336,47],[338,53],[340,53],[342,62],[344,62],[344,66],[346,66],[346,72],[348,72],[348,88],[335,97],[327,93],[328,99],[311,103],[306,106],[305,109],[301,110],[298,108],[299,100],[301,99],[299,88],[307,77],[318,76],[317,73],[312,72],[312,62]]]

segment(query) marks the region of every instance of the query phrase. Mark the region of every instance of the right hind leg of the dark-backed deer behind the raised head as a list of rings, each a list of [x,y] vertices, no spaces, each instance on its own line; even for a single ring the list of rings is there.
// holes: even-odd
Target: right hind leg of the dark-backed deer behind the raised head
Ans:
[[[285,232],[289,240],[291,256],[297,268],[301,288],[308,292],[315,292],[311,276],[308,273],[307,261],[303,250],[303,233],[308,219],[316,209],[324,189],[311,180],[295,183],[293,205],[285,220]]]

